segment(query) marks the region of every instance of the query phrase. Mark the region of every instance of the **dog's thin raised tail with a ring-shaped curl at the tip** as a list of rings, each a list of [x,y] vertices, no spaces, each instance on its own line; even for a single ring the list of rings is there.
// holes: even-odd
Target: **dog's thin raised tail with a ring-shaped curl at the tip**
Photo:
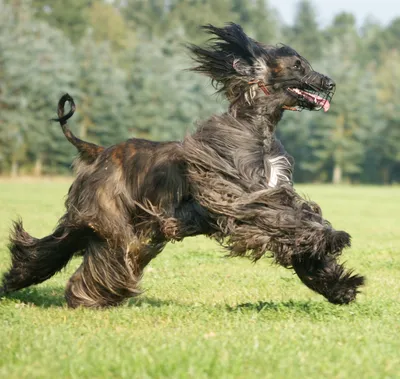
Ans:
[[[69,102],[71,109],[64,115],[64,106],[66,102]],[[70,119],[75,113],[75,102],[74,99],[69,95],[65,94],[61,97],[58,102],[58,118],[52,119],[52,121],[57,121],[61,125],[61,129],[69,142],[71,142],[79,151],[79,157],[86,163],[92,163],[96,160],[98,155],[104,150],[104,147],[95,145],[94,143],[82,141],[76,137],[67,125],[67,120]]]

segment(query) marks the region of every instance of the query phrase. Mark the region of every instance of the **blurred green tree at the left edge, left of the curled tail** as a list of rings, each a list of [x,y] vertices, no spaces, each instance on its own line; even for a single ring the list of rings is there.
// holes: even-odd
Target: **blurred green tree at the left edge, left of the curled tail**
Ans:
[[[0,3],[0,143],[3,168],[51,160],[53,128],[46,122],[61,91],[75,80],[73,48],[63,34],[32,18],[28,6]]]

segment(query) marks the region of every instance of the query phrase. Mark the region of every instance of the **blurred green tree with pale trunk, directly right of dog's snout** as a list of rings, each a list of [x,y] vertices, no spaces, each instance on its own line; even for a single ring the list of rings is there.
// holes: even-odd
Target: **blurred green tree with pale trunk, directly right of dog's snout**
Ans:
[[[355,41],[334,42],[326,52],[321,71],[337,83],[331,110],[314,118],[310,145],[312,156],[303,167],[322,180],[341,183],[359,177],[369,129],[376,121],[376,87],[373,74],[346,55]]]

